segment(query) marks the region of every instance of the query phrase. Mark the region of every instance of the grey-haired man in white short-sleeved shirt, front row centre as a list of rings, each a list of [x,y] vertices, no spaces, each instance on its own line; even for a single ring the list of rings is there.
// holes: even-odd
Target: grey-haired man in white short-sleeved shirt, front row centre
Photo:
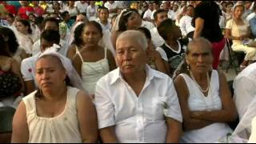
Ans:
[[[147,41],[126,30],[116,42],[118,69],[97,82],[102,142],[178,142],[182,114],[172,79],[146,65]]]

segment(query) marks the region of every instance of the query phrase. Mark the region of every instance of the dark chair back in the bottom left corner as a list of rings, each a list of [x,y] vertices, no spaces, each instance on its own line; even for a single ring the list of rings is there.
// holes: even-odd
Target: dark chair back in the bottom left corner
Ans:
[[[13,107],[0,107],[0,143],[10,142],[14,113]]]

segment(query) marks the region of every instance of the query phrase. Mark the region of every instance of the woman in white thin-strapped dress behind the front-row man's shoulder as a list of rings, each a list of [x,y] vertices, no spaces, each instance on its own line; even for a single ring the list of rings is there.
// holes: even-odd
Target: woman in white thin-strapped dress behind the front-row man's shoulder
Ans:
[[[98,22],[88,22],[82,28],[79,42],[84,43],[77,54],[74,55],[73,65],[78,74],[81,75],[83,86],[88,94],[94,94],[96,82],[110,70],[116,68],[114,57],[110,50],[98,45],[102,38],[102,26]],[[75,36],[75,39],[76,38]]]

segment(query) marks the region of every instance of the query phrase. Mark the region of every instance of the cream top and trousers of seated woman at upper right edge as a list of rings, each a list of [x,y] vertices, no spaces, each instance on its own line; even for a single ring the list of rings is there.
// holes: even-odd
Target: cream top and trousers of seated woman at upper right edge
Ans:
[[[243,20],[243,22],[245,23],[245,25],[238,26],[233,19],[230,19],[230,21],[226,23],[226,29],[231,30],[232,36],[240,37],[248,33],[248,28],[250,26],[246,20]],[[243,51],[246,53],[245,60],[256,60],[256,49],[254,47],[243,45],[243,42],[241,40],[233,40],[232,42],[232,50]]]

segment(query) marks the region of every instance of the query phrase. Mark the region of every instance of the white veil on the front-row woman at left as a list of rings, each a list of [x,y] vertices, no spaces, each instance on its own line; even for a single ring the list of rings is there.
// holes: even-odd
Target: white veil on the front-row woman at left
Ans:
[[[38,56],[38,58],[41,58],[42,56],[45,56],[45,55],[57,56],[61,60],[62,65],[64,66],[64,68],[66,69],[66,74],[67,74],[68,78],[70,78],[70,83],[74,87],[78,88],[79,90],[86,91],[82,86],[82,78],[80,78],[77,71],[74,70],[74,67],[73,67],[70,59],[66,58],[62,54],[59,54],[57,52],[58,49],[59,49],[59,46],[54,44],[54,46],[51,46],[50,48],[46,49],[42,54],[40,54]]]

